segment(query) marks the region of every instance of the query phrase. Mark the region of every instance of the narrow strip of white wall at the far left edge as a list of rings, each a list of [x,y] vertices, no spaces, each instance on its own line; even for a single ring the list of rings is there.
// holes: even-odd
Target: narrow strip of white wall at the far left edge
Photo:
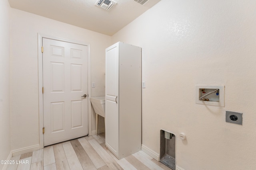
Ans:
[[[10,154],[10,5],[0,1],[0,160]],[[0,169],[3,168],[0,164]]]

